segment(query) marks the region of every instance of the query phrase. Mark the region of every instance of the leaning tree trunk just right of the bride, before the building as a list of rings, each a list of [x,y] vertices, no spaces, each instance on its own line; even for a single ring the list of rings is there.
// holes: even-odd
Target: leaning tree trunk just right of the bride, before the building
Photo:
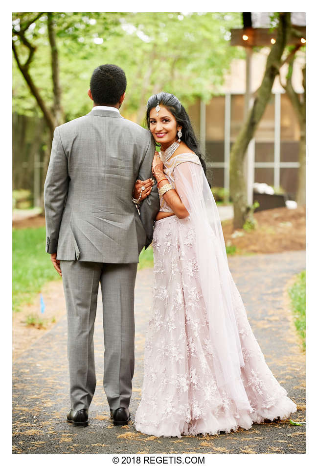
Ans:
[[[248,214],[246,183],[243,173],[244,158],[255,130],[264,114],[271,95],[274,79],[279,73],[281,56],[290,32],[290,13],[280,13],[276,42],[267,58],[265,74],[254,104],[230,154],[230,195],[234,205],[234,228],[242,228]]]

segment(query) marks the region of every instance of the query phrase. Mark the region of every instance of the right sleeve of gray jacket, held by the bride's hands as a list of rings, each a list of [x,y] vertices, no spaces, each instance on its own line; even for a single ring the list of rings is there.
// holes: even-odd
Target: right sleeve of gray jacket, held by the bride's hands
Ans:
[[[155,154],[155,143],[149,133],[149,144],[145,156],[139,168],[138,179],[147,180],[152,177],[151,164]],[[147,234],[145,249],[151,244],[154,232],[154,221],[160,208],[157,182],[154,184],[151,193],[146,197],[140,206],[140,220]]]

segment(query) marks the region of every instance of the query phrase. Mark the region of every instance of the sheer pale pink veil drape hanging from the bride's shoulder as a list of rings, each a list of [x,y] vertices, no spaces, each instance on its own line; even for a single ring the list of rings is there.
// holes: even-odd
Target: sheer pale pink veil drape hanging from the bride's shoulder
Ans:
[[[182,162],[175,166],[174,177],[176,190],[195,229],[199,281],[208,316],[217,384],[238,410],[251,412],[241,380],[244,360],[218,209],[201,164]]]

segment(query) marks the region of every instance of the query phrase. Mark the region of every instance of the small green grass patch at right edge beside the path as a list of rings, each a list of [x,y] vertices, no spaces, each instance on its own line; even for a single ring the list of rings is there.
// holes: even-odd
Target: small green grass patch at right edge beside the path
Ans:
[[[291,298],[292,311],[297,332],[303,348],[306,348],[306,272],[303,270],[294,285],[288,290]]]

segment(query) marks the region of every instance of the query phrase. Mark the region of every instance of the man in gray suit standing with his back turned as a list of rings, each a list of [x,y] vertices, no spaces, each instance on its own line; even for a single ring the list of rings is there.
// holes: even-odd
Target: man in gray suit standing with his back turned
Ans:
[[[94,70],[88,91],[94,106],[55,129],[45,180],[46,252],[62,275],[67,304],[67,420],[77,427],[88,425],[96,386],[93,333],[99,283],[104,389],[114,424],[130,419],[137,262],[151,243],[159,196],[150,180],[151,133],[119,113],[125,90],[125,73],[118,66]],[[140,215],[132,202],[137,179],[149,179],[143,197],[150,194],[141,202]]]

